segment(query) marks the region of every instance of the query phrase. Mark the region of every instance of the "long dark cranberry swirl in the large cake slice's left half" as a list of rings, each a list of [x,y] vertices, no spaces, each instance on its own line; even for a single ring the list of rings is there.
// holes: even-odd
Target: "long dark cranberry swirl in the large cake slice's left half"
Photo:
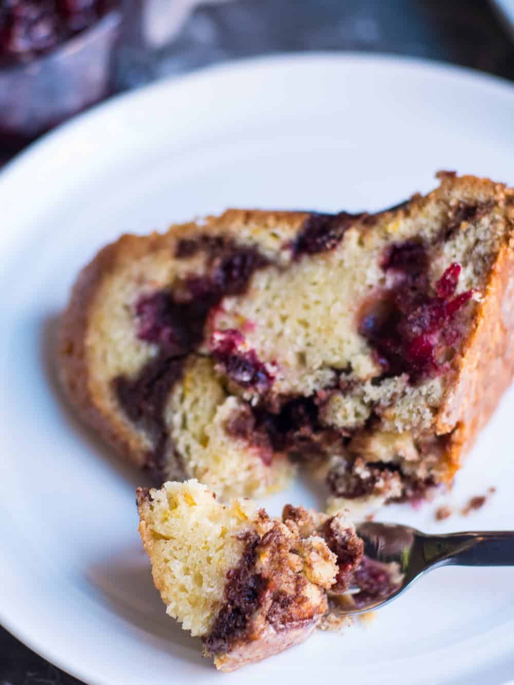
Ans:
[[[182,375],[186,356],[195,351],[204,338],[211,308],[218,306],[224,295],[244,292],[252,273],[268,263],[255,249],[238,247],[221,237],[211,236],[181,241],[175,256],[184,258],[198,250],[207,253],[204,275],[189,275],[173,291],[157,290],[142,295],[134,306],[138,337],[156,343],[158,356],[151,359],[135,379],[122,375],[112,382],[125,414],[154,440],[154,450],[147,457],[148,466],[154,471],[162,471],[167,446],[162,415],[164,403],[173,384]],[[238,382],[259,388],[271,383],[272,378],[258,364],[255,354],[232,353],[230,345],[227,338],[217,353],[221,361],[228,363]]]

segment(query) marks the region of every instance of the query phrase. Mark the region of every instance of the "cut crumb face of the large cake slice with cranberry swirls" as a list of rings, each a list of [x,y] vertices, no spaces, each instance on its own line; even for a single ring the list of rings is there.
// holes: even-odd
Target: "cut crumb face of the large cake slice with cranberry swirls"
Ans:
[[[152,256],[151,280],[140,262],[114,303],[138,361],[109,374],[156,469],[225,497],[306,464],[332,510],[449,479],[437,414],[509,231],[491,197],[443,178],[393,212],[298,215],[289,232],[195,225],[173,260]]]

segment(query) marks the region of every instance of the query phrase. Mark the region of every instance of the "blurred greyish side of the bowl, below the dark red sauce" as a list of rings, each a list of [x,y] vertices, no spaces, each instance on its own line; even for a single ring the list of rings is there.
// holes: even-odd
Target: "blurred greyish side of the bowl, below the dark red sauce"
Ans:
[[[0,69],[0,137],[13,147],[110,94],[121,11],[27,64]]]

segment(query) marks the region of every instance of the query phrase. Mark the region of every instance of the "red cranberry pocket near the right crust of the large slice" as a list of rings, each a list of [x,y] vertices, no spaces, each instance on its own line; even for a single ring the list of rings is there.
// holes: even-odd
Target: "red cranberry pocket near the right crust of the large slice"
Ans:
[[[428,255],[421,242],[393,245],[382,269],[393,285],[371,301],[359,332],[376,351],[384,374],[408,373],[415,383],[445,369],[444,353],[456,345],[461,330],[456,314],[472,298],[472,290],[455,294],[459,264],[451,264],[429,295]]]

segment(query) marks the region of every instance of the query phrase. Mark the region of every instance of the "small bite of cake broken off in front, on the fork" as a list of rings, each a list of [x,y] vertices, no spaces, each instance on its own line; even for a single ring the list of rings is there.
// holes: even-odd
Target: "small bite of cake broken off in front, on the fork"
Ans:
[[[167,613],[232,671],[303,642],[342,588],[363,543],[341,514],[221,504],[196,480],[138,490],[139,531]],[[333,551],[332,551],[333,550]]]

